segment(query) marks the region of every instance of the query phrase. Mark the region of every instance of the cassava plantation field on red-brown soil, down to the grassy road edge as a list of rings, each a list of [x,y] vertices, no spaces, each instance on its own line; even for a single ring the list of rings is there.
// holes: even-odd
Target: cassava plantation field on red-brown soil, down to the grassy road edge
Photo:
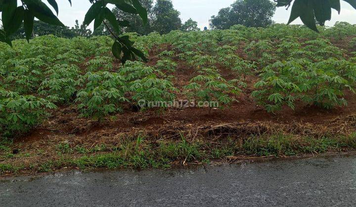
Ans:
[[[107,36],[0,43],[0,173],[356,149],[356,26],[319,30],[126,34],[147,63]]]

